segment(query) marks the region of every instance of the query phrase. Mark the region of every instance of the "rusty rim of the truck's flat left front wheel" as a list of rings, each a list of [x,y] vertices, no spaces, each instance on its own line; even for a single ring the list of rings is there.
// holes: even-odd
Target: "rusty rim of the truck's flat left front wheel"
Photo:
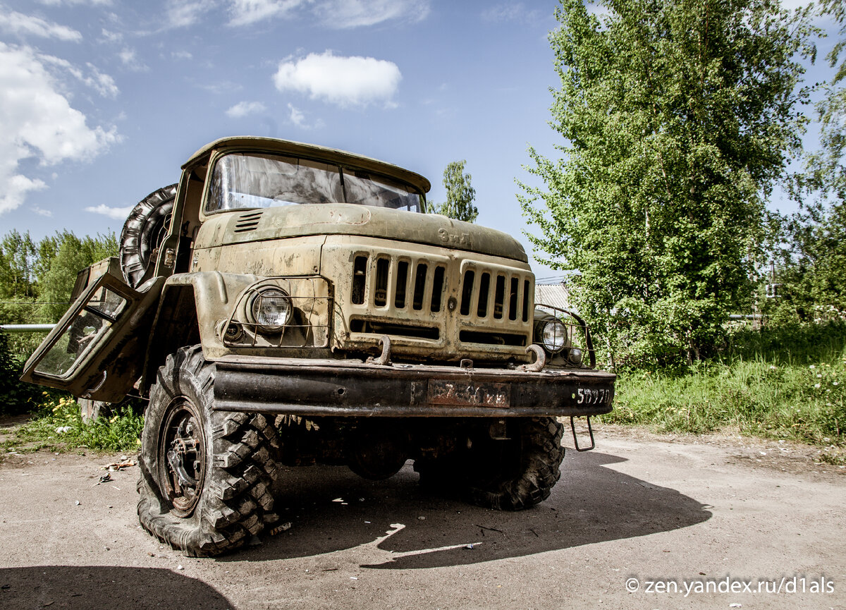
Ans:
[[[200,411],[189,398],[168,405],[158,443],[162,491],[179,517],[194,513],[206,480],[206,434]]]

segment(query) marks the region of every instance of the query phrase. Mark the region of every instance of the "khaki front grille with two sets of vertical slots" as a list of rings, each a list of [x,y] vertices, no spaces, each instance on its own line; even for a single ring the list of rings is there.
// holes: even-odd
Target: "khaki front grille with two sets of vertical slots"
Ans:
[[[351,332],[437,342],[450,356],[523,355],[531,343],[528,270],[401,251],[358,252],[350,262]]]

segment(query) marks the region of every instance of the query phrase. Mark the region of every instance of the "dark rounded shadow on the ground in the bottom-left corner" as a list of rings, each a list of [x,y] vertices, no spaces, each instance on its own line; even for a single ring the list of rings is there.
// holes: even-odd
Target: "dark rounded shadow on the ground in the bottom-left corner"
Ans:
[[[206,583],[169,569],[37,565],[0,569],[0,607],[224,610],[234,605]]]

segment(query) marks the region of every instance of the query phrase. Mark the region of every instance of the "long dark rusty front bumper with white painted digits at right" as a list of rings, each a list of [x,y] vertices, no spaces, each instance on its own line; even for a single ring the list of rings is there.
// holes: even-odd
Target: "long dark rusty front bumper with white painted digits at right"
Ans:
[[[345,417],[527,417],[610,413],[613,373],[590,369],[378,365],[227,356],[214,409]]]

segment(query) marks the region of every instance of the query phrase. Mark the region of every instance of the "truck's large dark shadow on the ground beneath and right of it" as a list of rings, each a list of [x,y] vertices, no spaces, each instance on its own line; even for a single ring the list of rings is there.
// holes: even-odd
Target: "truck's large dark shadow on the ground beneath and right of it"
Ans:
[[[369,568],[434,568],[646,536],[711,517],[706,504],[604,467],[624,461],[606,453],[568,453],[549,499],[517,513],[420,489],[410,463],[376,482],[343,467],[285,469],[276,510],[290,529],[265,534],[261,546],[221,561],[343,552],[341,563],[354,558]]]

